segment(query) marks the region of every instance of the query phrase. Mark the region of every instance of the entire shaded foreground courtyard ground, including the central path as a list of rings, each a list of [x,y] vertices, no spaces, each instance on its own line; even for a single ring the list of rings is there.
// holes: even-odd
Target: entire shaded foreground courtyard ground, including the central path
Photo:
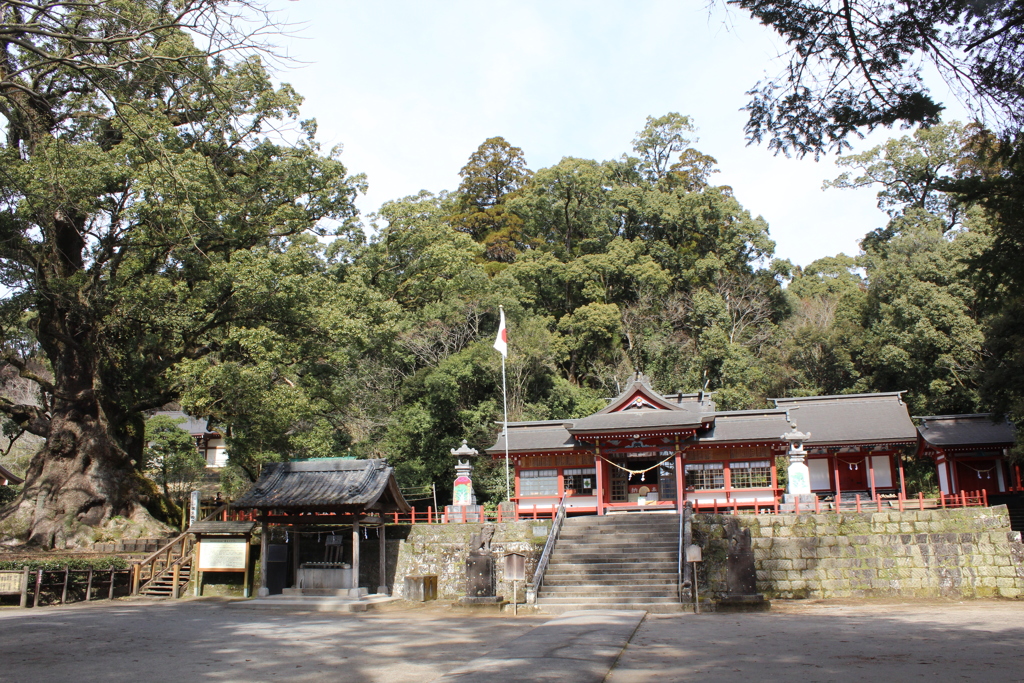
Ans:
[[[606,683],[1024,681],[1024,602],[791,603],[763,614],[647,615],[634,632],[638,621],[440,607],[264,612],[193,600],[5,608],[0,680],[423,683],[479,672],[497,683],[506,669],[525,681],[543,677],[522,667],[568,667],[572,680]]]

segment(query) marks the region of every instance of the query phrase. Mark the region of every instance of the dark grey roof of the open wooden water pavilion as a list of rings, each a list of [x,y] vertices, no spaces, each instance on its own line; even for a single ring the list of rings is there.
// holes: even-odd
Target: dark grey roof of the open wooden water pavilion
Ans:
[[[408,512],[394,470],[384,460],[324,458],[264,465],[236,508]]]

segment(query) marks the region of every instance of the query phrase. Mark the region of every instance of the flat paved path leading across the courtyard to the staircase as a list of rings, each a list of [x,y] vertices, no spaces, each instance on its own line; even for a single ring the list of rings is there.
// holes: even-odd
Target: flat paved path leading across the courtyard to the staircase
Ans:
[[[644,614],[612,609],[565,612],[436,683],[601,683]]]

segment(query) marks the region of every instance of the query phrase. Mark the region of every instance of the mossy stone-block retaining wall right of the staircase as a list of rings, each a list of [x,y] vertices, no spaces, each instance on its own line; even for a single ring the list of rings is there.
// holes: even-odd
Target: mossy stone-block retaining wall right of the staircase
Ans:
[[[731,515],[730,515],[731,517]],[[725,591],[726,515],[694,515],[699,588]],[[1024,597],[1024,545],[1006,506],[738,515],[770,598]]]

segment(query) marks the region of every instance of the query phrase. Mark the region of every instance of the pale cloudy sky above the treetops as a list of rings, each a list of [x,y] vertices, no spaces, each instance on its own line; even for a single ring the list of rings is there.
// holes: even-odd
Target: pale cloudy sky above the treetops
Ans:
[[[710,0],[712,3],[715,0]],[[305,97],[302,118],[368,176],[364,214],[459,185],[486,138],[538,170],[563,157],[631,152],[648,116],[678,112],[715,157],[716,184],[763,216],[776,257],[807,265],[886,222],[874,189],[822,190],[835,157],[773,156],[743,136],[748,90],[785,66],[774,34],[721,3],[681,0],[269,0],[291,57],[276,76]],[[938,93],[937,93],[938,94]],[[940,100],[945,99],[940,96]],[[854,152],[906,131],[877,131]]]

